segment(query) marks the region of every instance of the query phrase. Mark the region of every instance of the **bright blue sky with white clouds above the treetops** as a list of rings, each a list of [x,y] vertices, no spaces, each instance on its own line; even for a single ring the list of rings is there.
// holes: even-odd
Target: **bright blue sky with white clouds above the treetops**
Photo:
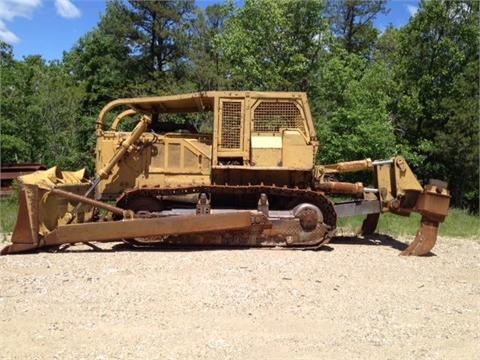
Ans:
[[[221,2],[197,0],[205,7]],[[388,0],[387,15],[375,21],[380,30],[389,24],[405,25],[415,14],[419,0]],[[41,55],[61,60],[80,37],[93,30],[105,12],[105,0],[0,0],[0,40],[13,46],[15,58]]]

